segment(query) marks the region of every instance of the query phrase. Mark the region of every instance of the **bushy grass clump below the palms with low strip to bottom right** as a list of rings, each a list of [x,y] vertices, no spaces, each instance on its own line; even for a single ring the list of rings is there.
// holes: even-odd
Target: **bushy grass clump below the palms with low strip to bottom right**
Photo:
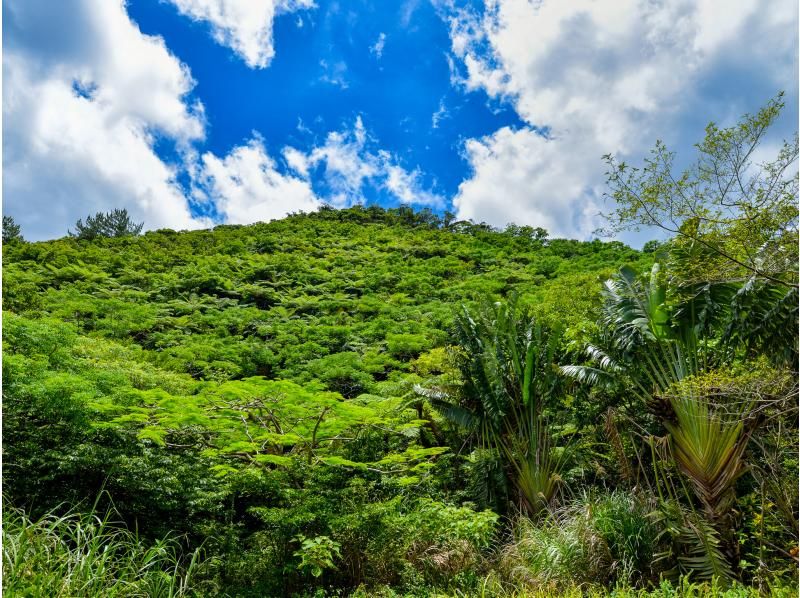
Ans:
[[[615,491],[587,493],[534,521],[520,518],[492,572],[470,596],[480,598],[758,598],[757,588],[692,575],[669,581],[657,556],[662,522],[655,503]],[[669,579],[672,579],[671,577]],[[775,580],[767,595],[797,596],[796,581]],[[459,595],[460,597],[461,595]],[[464,597],[467,594],[463,594]]]

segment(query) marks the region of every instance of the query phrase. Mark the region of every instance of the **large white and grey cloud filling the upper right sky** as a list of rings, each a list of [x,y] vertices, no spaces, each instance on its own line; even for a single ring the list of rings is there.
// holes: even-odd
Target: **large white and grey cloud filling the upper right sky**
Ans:
[[[696,138],[719,116],[714,94],[761,94],[757,106],[796,88],[796,3],[766,4],[487,0],[483,15],[451,14],[457,84],[511,102],[530,125],[466,143],[473,172],[454,199],[458,216],[587,236],[603,154]],[[709,76],[719,78],[711,92]]]

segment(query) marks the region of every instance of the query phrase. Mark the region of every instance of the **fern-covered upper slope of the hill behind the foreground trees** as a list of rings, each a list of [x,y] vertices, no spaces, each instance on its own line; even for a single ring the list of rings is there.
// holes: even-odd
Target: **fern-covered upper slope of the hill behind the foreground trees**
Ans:
[[[590,317],[599,281],[642,260],[620,243],[398,220],[323,211],[213,231],[10,246],[4,308],[133,343],[198,379],[307,381],[343,354],[359,359],[338,362],[379,382],[444,344],[461,303],[517,293],[541,316],[575,324]],[[367,387],[332,390],[354,396]]]

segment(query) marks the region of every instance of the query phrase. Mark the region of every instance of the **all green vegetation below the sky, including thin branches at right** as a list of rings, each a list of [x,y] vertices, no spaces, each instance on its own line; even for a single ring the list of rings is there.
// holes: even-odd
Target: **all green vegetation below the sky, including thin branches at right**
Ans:
[[[17,228],[6,595],[796,595],[781,106],[685,174],[607,158],[642,251],[407,207]]]

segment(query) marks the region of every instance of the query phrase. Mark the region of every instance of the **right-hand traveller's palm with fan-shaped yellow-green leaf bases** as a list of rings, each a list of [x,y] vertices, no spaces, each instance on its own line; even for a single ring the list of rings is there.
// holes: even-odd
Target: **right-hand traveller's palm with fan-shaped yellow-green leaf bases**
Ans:
[[[721,365],[719,343],[699,339],[698,327],[670,307],[668,288],[658,264],[647,282],[629,268],[604,289],[601,324],[603,348],[589,347],[586,365],[562,371],[577,380],[601,384],[623,376],[642,404],[659,414],[668,433],[669,453],[689,481],[705,522],[685,518],[682,535],[697,540],[683,564],[700,577],[730,575],[738,562],[731,508],[734,484],[746,470],[746,425],[752,404],[724,405],[704,388],[703,376]],[[724,558],[722,558],[724,556]],[[725,563],[722,567],[719,563]]]

